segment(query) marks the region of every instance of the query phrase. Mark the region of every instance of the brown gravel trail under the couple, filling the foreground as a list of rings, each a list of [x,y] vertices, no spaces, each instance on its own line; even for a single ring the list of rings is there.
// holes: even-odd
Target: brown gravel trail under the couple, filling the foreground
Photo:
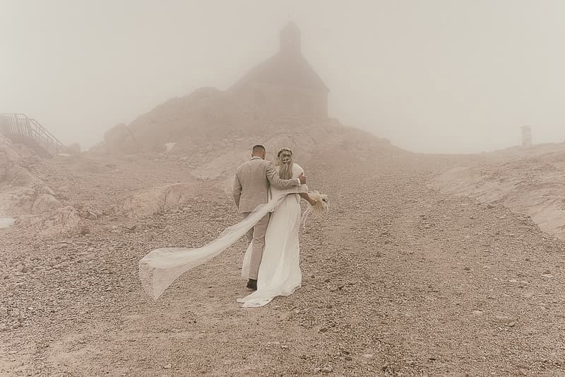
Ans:
[[[138,284],[148,250],[196,246],[237,221],[229,197],[65,243],[0,233],[0,306],[18,306],[23,323],[0,332],[0,374],[565,373],[562,241],[505,207],[433,190],[432,158],[331,151],[305,168],[333,209],[301,234],[303,287],[265,308],[235,301],[248,293],[243,240],[157,302]]]

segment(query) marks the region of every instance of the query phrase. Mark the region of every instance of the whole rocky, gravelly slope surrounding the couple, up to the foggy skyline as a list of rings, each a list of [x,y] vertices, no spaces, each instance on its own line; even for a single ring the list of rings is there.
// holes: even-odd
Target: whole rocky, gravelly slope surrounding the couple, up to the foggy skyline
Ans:
[[[186,101],[79,156],[0,139],[0,374],[564,374],[565,243],[543,231],[562,234],[563,146],[422,155],[335,120],[214,129]],[[256,143],[331,198],[301,229],[302,288],[239,308],[240,240],[154,302],[138,260],[235,224]]]

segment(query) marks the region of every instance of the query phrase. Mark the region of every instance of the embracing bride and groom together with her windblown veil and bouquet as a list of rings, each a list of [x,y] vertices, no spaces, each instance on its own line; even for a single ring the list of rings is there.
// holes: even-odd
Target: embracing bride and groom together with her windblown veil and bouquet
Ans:
[[[291,149],[278,151],[276,167],[265,157],[265,148],[256,145],[251,159],[237,168],[233,197],[242,221],[201,248],[160,248],[140,260],[139,276],[148,294],[157,299],[184,272],[219,255],[245,235],[249,247],[242,277],[248,279],[247,288],[254,292],[239,298],[239,303],[244,307],[264,306],[300,287],[300,199],[311,204],[309,213],[325,211],[327,197],[308,192],[304,169],[294,163]]]

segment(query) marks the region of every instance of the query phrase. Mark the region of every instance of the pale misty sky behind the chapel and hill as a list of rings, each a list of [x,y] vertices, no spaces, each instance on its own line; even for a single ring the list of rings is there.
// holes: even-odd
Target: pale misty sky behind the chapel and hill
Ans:
[[[0,112],[83,148],[278,50],[290,18],[329,113],[412,151],[565,140],[565,1],[0,0]]]

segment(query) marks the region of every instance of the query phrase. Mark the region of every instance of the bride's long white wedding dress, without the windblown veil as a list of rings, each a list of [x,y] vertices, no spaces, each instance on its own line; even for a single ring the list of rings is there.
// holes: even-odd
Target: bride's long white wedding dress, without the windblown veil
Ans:
[[[278,173],[278,172],[277,172]],[[297,163],[292,166],[292,178],[304,173]],[[270,187],[270,195],[278,197],[284,190]],[[302,284],[300,271],[300,246],[298,231],[300,227],[300,196],[286,195],[270,215],[265,236],[265,249],[257,277],[257,290],[237,302],[244,307],[264,306],[276,296],[288,296]],[[249,275],[251,247],[245,253],[242,277]]]

